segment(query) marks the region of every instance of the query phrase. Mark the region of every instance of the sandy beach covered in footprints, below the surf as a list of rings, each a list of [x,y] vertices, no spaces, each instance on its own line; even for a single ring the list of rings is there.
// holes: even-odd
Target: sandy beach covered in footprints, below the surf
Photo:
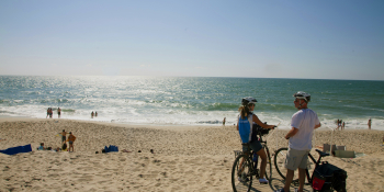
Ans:
[[[77,137],[75,151],[37,151],[39,143],[59,147],[55,136],[66,129]],[[270,133],[271,151],[286,147],[286,131]],[[347,146],[364,153],[359,158],[326,157],[348,172],[347,191],[384,191],[384,132],[316,131],[314,146]],[[145,126],[72,120],[1,118],[0,149],[32,145],[32,153],[0,154],[0,191],[233,191],[234,150],[241,148],[234,126]],[[104,146],[118,153],[95,154]],[[132,153],[123,153],[126,149]],[[150,149],[155,154],[150,153]],[[142,153],[138,153],[142,150]],[[269,185],[253,183],[252,191],[283,187],[272,172]],[[292,185],[291,190],[293,191]],[[309,187],[306,187],[309,191]]]

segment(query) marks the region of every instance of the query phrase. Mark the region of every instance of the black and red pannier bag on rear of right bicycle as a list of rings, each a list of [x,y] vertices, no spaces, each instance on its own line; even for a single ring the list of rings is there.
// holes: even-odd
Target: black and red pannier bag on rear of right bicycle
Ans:
[[[331,189],[346,192],[347,177],[347,171],[325,161],[315,168],[312,188],[319,192],[330,191]]]

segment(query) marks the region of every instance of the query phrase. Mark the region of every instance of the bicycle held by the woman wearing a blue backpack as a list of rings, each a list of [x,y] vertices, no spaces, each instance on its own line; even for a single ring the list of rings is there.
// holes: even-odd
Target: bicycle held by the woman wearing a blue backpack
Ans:
[[[267,122],[264,123],[267,124]],[[266,151],[267,155],[267,167],[266,167],[266,178],[268,181],[270,181],[272,179],[272,162],[271,162],[271,156],[270,156],[270,151],[267,147],[267,140],[262,140],[262,136],[269,134],[269,128],[262,128],[259,125],[253,125],[257,126],[256,127],[256,135],[258,135],[259,137],[259,142],[262,145],[262,148]],[[259,169],[257,169],[258,167],[258,159],[256,159],[253,161],[253,155],[256,154],[255,151],[252,151],[249,147],[249,143],[247,144],[241,144],[241,145],[248,145],[248,149],[247,151],[239,151],[239,150],[235,150],[235,161],[234,161],[234,166],[231,169],[231,187],[234,192],[238,192],[238,191],[250,191],[251,187],[252,187],[252,177],[255,176],[256,178],[259,178]]]

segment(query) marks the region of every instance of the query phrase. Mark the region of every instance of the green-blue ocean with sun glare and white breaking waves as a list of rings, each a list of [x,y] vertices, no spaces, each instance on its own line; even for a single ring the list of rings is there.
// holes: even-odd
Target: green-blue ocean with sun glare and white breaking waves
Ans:
[[[34,77],[0,76],[0,116],[46,118],[48,108],[61,118],[142,125],[237,123],[245,97],[258,103],[262,122],[290,128],[296,91],[312,94],[308,106],[323,127],[384,129],[384,81],[208,78],[208,77]],[[91,118],[91,112],[98,117]]]

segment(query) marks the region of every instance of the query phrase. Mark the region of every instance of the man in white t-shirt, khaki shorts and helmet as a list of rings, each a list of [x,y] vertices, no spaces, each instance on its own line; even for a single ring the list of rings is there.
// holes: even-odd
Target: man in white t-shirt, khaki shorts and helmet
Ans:
[[[305,181],[305,169],[308,160],[308,153],[312,149],[312,137],[316,128],[320,127],[317,114],[308,109],[310,94],[298,91],[293,94],[294,105],[298,110],[291,120],[291,131],[285,135],[290,139],[289,151],[285,159],[286,177],[285,185],[276,192],[290,191],[294,171],[298,168],[298,191],[303,192]]]

